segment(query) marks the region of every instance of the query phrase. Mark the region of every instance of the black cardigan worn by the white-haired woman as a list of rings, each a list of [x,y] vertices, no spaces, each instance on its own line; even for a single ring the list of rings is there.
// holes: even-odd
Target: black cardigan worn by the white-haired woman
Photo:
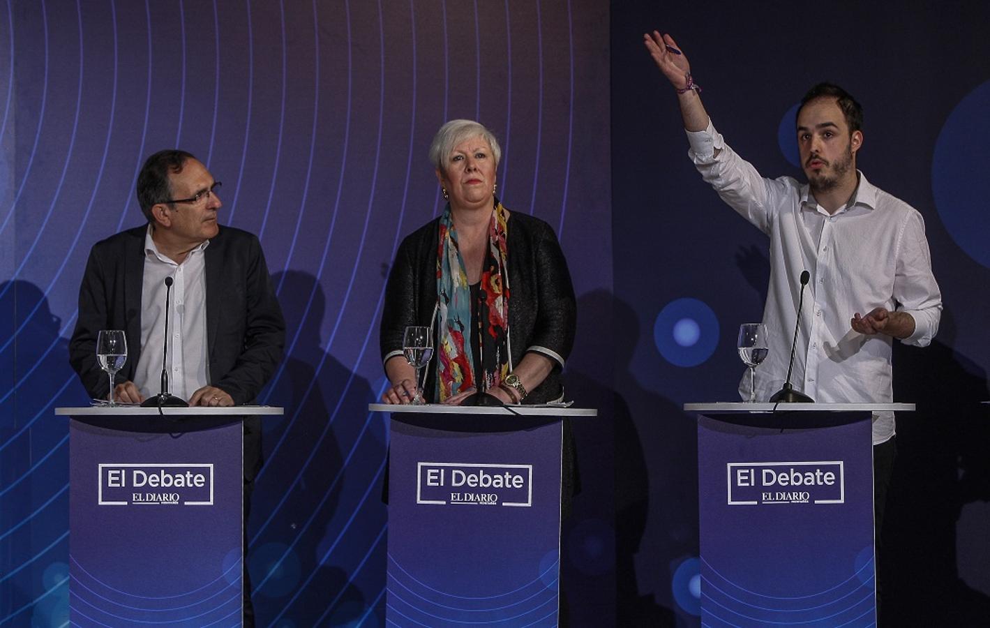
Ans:
[[[402,353],[402,335],[407,326],[424,325],[436,330],[439,225],[440,218],[432,220],[399,245],[381,316],[383,363]],[[549,225],[539,218],[512,212],[507,230],[512,363],[518,365],[530,351],[555,363],[545,380],[525,399],[525,403],[545,403],[563,392],[561,369],[574,344],[577,320],[574,287]],[[436,361],[434,352],[424,386],[428,401],[433,400],[436,389]]]

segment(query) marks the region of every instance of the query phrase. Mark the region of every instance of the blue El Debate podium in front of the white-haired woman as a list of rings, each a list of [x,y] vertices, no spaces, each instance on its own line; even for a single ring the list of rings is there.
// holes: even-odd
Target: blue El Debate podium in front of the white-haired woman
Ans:
[[[386,623],[555,626],[563,419],[597,411],[369,409],[391,413]]]

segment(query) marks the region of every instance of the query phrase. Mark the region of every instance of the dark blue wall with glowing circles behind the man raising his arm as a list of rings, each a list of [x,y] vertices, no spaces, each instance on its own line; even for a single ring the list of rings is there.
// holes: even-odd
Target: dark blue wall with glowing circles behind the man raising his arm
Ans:
[[[898,417],[884,610],[893,625],[990,617],[990,425],[978,404],[990,367],[988,24],[983,2],[613,3],[616,390],[629,409],[616,418],[625,625],[696,621],[684,609],[694,603],[684,576],[697,574],[695,432],[680,407],[739,398],[736,334],[759,320],[768,274],[766,238],[686,157],[675,95],[644,52],[643,33],[654,28],[674,35],[716,127],[765,176],[802,177],[793,108],[812,84],[837,82],[862,103],[857,164],[924,216],[945,306],[932,347],[895,349],[895,400],[919,411]],[[684,319],[693,325],[676,328]]]

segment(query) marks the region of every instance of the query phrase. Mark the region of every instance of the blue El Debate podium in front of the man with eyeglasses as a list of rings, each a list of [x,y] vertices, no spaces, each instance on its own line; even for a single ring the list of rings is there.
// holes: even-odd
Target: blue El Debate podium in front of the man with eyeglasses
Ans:
[[[56,408],[73,626],[241,625],[242,420],[281,408]]]

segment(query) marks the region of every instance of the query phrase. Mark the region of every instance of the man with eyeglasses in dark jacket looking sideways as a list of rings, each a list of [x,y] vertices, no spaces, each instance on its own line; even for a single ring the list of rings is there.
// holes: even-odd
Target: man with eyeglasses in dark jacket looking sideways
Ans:
[[[190,406],[252,403],[274,373],[282,359],[285,321],[257,238],[218,223],[219,188],[220,181],[196,157],[176,150],[155,153],[138,175],[138,202],[148,224],[93,246],[79,288],[69,362],[94,399],[105,399],[110,391],[95,352],[104,329],[127,335],[130,355],[114,392],[122,402],[157,394],[162,364],[171,393]],[[257,417],[245,420],[244,446],[247,525],[253,479],[261,467]],[[245,570],[245,622],[253,625],[249,595]]]

